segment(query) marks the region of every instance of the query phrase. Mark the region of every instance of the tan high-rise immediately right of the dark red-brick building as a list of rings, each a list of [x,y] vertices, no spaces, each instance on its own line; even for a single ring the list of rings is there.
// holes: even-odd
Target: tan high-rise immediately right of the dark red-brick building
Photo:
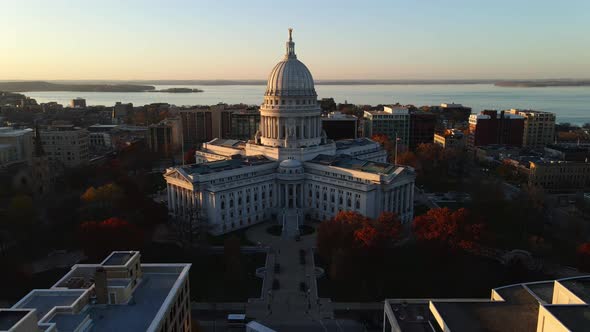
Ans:
[[[554,113],[518,109],[511,109],[508,112],[524,118],[522,146],[543,148],[555,141]]]

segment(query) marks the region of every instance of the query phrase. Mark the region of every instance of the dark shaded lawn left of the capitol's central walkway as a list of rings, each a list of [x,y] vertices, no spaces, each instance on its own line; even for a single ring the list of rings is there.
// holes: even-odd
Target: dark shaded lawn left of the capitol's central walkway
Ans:
[[[222,253],[185,251],[173,245],[152,245],[141,253],[143,263],[191,263],[191,299],[197,302],[246,302],[260,297],[262,279],[255,272],[266,253],[242,253],[239,265],[226,267]]]

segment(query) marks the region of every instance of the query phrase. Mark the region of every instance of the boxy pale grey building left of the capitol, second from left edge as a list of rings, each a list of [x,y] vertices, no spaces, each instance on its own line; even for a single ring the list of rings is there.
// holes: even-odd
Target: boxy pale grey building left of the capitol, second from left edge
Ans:
[[[76,167],[88,162],[88,130],[73,125],[60,125],[41,131],[43,149],[53,164]]]

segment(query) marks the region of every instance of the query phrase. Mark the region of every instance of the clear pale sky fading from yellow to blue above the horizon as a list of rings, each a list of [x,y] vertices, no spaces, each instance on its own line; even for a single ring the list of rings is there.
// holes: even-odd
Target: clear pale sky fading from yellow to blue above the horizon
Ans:
[[[590,78],[590,0],[2,0],[0,79]]]

